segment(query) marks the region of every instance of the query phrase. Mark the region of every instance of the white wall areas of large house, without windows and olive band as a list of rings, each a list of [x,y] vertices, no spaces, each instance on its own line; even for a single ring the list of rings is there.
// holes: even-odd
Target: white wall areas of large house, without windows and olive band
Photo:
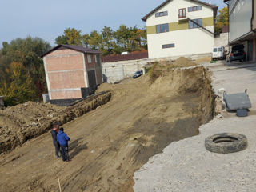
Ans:
[[[188,12],[190,6],[202,6],[202,10]],[[214,16],[209,6],[191,2],[188,0],[173,0],[156,12],[168,11],[168,16],[156,18],[154,14],[146,20],[146,26],[155,26],[163,23],[178,22],[178,9],[186,8],[188,18],[210,18]],[[206,29],[214,32],[214,26]],[[211,53],[214,47],[214,35],[201,28],[175,30],[160,34],[148,34],[149,58],[163,58],[190,54]],[[174,48],[162,49],[162,45],[175,43]]]

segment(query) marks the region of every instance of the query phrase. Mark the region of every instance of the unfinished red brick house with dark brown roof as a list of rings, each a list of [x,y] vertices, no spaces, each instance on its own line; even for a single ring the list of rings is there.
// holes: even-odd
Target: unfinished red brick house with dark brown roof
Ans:
[[[102,83],[101,52],[59,45],[42,55],[50,103],[66,106]]]

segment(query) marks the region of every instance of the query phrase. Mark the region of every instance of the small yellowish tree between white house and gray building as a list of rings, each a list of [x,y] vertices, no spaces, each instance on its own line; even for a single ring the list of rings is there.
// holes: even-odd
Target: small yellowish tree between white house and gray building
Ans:
[[[229,25],[229,10],[227,7],[223,7],[222,10],[218,11],[218,17],[214,25],[214,33],[222,33],[222,27]]]

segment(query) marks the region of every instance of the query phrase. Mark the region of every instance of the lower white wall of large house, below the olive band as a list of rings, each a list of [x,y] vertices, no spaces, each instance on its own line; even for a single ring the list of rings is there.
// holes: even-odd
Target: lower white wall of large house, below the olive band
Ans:
[[[147,41],[149,58],[211,53],[214,47],[213,35],[200,28],[150,34]],[[162,45],[170,43],[175,43],[175,47],[162,49]]]

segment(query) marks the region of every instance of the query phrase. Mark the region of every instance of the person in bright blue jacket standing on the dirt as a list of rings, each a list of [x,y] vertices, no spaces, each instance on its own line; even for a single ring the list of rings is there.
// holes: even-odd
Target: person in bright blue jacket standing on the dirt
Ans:
[[[69,150],[68,150],[68,141],[70,141],[70,138],[64,133],[63,127],[60,128],[57,134],[57,141],[59,142],[61,146],[62,151],[62,161],[63,162],[69,162]]]

